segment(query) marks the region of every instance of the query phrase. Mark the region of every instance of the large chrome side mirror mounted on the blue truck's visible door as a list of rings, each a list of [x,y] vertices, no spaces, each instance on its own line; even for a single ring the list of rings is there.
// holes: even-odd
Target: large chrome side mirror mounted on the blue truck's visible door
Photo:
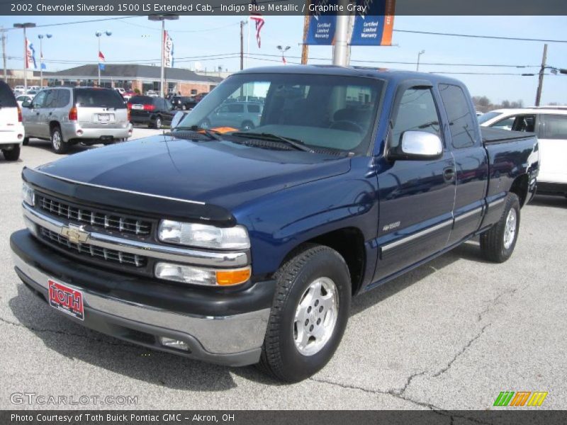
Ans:
[[[406,131],[400,146],[388,152],[388,159],[422,161],[438,159],[443,154],[443,142],[439,136],[427,131]]]

